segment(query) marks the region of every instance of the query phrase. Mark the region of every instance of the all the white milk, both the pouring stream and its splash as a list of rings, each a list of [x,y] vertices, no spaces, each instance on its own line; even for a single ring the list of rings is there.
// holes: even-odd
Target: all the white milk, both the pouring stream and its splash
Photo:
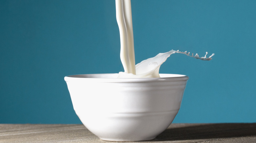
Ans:
[[[117,24],[120,32],[120,58],[124,67],[124,72],[119,72],[118,78],[157,78],[159,76],[159,69],[166,59],[174,54],[180,53],[190,56],[190,52],[180,52],[171,50],[166,53],[159,53],[155,57],[148,58],[135,65],[135,54],[134,54],[134,41],[133,41],[133,26],[132,26],[132,10],[130,0],[116,0],[116,15]],[[199,57],[198,54],[191,57],[201,60],[211,60],[212,54],[209,57]]]

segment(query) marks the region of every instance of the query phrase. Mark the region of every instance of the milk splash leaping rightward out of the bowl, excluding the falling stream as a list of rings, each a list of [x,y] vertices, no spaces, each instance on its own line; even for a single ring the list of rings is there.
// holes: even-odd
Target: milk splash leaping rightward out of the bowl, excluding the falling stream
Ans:
[[[180,53],[180,54],[185,54],[187,56],[190,56],[190,52],[187,53],[187,51],[185,52],[180,52],[178,51],[174,51],[171,50],[169,52],[166,53],[159,53],[157,56],[155,57],[151,57],[148,58],[146,60],[141,61],[140,63],[138,63],[135,66],[136,69],[136,75],[132,74],[132,73],[127,73],[127,72],[119,72],[119,76],[118,78],[156,78],[156,77],[160,77],[159,76],[159,69],[160,66],[162,65],[162,63],[164,63],[166,61],[166,59],[174,54],[174,53]],[[214,56],[214,53],[209,56],[206,57],[206,55],[208,54],[208,52],[206,52],[205,56],[203,57],[199,57],[198,54],[196,54],[194,56],[194,54],[192,53],[191,57],[194,57],[196,59],[201,59],[201,60],[211,60],[212,56]]]

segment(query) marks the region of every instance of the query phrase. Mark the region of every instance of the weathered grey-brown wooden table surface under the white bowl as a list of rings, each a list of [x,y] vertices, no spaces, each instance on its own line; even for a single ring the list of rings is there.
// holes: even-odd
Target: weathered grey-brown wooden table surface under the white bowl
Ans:
[[[0,143],[111,143],[82,124],[0,124]],[[256,143],[256,123],[171,124],[139,143]]]

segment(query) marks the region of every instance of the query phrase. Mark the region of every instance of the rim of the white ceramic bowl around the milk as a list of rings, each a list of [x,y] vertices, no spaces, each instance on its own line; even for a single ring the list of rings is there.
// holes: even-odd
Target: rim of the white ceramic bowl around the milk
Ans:
[[[66,82],[108,82],[108,83],[123,83],[123,82],[159,82],[159,81],[187,81],[188,76],[182,74],[160,73],[158,78],[117,78],[118,73],[96,73],[96,74],[76,74],[64,77]]]

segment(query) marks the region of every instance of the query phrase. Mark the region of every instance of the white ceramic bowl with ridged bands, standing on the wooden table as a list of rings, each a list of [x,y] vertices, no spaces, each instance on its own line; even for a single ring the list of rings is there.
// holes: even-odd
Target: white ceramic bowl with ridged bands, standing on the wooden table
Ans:
[[[117,73],[66,76],[75,113],[102,140],[154,139],[178,113],[188,76],[117,76]]]

